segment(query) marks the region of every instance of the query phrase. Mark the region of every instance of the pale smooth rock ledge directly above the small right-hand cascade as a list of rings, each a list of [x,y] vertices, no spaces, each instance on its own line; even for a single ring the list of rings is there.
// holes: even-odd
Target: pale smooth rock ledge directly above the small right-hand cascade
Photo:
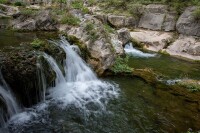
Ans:
[[[172,41],[173,34],[168,32],[137,30],[131,32],[131,37],[136,42],[142,43],[146,49],[158,52]]]

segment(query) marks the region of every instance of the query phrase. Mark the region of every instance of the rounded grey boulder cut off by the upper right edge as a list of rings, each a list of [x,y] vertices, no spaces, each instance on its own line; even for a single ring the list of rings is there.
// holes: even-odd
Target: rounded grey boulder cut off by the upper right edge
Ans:
[[[200,36],[200,21],[195,20],[192,13],[197,7],[188,7],[179,17],[176,29],[180,34],[190,36]]]

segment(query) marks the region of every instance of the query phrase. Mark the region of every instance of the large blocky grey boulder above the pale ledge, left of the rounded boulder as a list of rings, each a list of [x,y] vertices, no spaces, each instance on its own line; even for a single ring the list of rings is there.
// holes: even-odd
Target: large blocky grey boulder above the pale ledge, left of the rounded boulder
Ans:
[[[140,28],[150,30],[175,30],[176,14],[168,12],[166,5],[150,4],[145,7],[145,11],[140,18]]]

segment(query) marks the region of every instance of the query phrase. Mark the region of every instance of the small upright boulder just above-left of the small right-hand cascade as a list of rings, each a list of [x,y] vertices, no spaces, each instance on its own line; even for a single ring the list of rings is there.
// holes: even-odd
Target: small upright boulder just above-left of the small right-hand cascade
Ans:
[[[122,28],[118,30],[117,33],[118,33],[118,38],[122,42],[123,45],[125,45],[131,40],[131,35],[127,28]]]

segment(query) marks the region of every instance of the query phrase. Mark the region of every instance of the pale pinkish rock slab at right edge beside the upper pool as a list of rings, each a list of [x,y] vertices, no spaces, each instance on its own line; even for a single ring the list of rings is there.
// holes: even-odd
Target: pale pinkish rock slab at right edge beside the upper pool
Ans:
[[[192,36],[180,35],[166,51],[171,55],[200,60],[200,41]]]

